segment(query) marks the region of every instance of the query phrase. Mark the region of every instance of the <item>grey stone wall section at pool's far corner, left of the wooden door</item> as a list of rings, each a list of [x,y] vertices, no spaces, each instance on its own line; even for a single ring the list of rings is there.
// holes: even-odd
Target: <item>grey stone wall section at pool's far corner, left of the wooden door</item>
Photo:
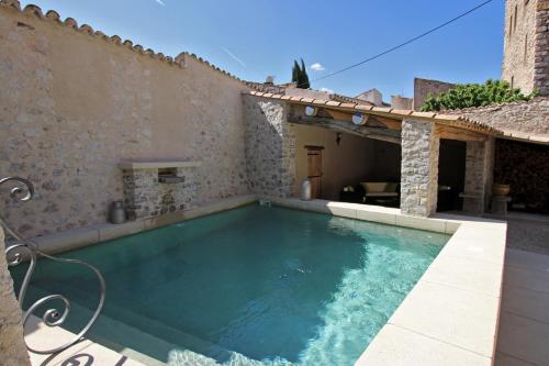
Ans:
[[[288,106],[254,96],[243,99],[249,190],[265,196],[293,196],[295,135],[287,123]]]

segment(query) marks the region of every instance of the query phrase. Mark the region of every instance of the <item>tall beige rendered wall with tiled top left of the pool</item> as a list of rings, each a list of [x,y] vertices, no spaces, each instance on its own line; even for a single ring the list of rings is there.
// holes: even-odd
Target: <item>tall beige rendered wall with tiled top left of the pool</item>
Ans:
[[[0,176],[36,185],[24,207],[0,202],[9,222],[29,236],[104,222],[122,160],[201,162],[199,203],[247,193],[247,86],[83,30],[0,7]]]

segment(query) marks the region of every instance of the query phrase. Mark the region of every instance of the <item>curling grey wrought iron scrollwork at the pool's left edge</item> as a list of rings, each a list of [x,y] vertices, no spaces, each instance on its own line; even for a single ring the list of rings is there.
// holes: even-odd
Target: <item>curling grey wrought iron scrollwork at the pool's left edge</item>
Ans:
[[[31,181],[27,179],[23,179],[20,177],[7,177],[0,179],[0,187],[2,187],[4,184],[13,184],[14,187],[10,190],[10,195],[12,198],[18,199],[20,201],[30,201],[34,197],[34,186],[32,185]],[[65,263],[65,264],[72,264],[72,265],[80,265],[85,266],[93,274],[96,275],[99,286],[100,286],[100,297],[99,297],[99,303],[96,308],[96,311],[93,312],[93,315],[90,318],[88,323],[83,329],[80,330],[78,334],[76,334],[69,342],[59,345],[54,348],[48,348],[48,350],[36,350],[34,347],[31,347],[29,344],[26,344],[26,347],[29,351],[37,353],[37,354],[54,354],[61,352],[75,343],[79,342],[82,336],[90,330],[90,328],[93,325],[93,323],[97,321],[99,318],[99,314],[101,313],[101,310],[103,309],[104,304],[104,299],[105,299],[105,281],[101,273],[99,271],[98,268],[93,267],[92,265],[79,260],[79,259],[68,259],[68,258],[58,258],[54,257],[52,255],[48,255],[41,249],[38,249],[38,246],[32,242],[31,240],[27,240],[23,236],[21,236],[15,230],[11,229],[5,220],[2,218],[0,214],[0,226],[3,228],[5,233],[8,233],[12,239],[14,239],[15,244],[12,244],[5,248],[5,256],[8,259],[8,265],[9,266],[16,266],[24,259],[29,259],[29,269],[25,273],[25,276],[23,278],[23,282],[21,284],[21,288],[19,289],[18,293],[18,301],[23,308],[23,301],[25,299],[26,290],[29,289],[29,285],[31,282],[31,278],[33,276],[34,269],[36,267],[36,259],[38,256],[59,262],[59,263]],[[42,306],[53,301],[53,300],[60,300],[63,302],[63,309],[56,309],[52,308],[48,309],[44,312],[42,315],[42,320],[47,326],[58,326],[61,325],[67,317],[69,315],[70,312],[70,301],[63,295],[49,295],[45,296],[38,300],[36,300],[34,303],[32,303],[26,311],[23,313],[23,326],[25,323],[29,321],[30,317]],[[25,341],[26,342],[26,341]]]

